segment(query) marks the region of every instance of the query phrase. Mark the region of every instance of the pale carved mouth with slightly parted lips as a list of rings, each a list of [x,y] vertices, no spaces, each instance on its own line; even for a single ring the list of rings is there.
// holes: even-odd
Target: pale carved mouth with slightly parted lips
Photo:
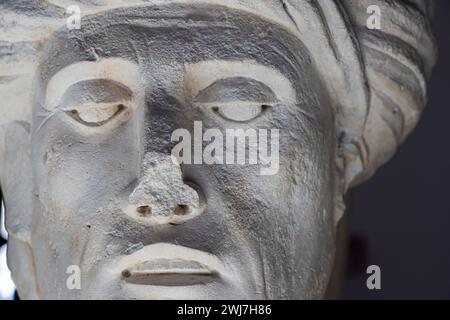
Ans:
[[[119,269],[126,282],[170,286],[210,282],[223,273],[215,255],[170,243],[148,245],[124,256]]]

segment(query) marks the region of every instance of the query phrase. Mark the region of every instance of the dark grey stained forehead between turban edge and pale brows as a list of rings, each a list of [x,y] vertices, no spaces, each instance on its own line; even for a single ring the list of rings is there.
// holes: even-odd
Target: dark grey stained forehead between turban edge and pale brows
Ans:
[[[44,50],[40,77],[45,82],[69,64],[102,57],[173,64],[254,59],[289,74],[308,54],[283,26],[238,9],[179,4],[119,8],[85,17],[80,30],[55,32]]]

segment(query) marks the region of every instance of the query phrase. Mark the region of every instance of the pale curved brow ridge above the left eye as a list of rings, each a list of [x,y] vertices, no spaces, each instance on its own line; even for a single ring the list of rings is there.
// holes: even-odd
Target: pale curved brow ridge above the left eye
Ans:
[[[71,64],[49,80],[45,90],[44,108],[53,110],[74,85],[88,81],[109,81],[131,93],[140,87],[140,73],[136,64],[121,58]]]

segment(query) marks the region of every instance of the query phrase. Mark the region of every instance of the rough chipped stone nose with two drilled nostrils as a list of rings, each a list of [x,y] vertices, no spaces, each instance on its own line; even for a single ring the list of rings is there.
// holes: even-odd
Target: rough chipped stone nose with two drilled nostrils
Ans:
[[[173,156],[148,152],[141,177],[128,197],[126,213],[144,224],[180,224],[205,211],[203,193],[183,181],[181,167]]]

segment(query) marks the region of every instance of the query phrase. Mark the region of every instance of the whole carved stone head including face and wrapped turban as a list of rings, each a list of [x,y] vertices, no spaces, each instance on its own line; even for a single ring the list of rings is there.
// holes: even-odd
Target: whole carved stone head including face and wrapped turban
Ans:
[[[70,5],[79,29],[67,25]],[[379,30],[366,27],[370,5]],[[322,298],[343,196],[425,105],[432,10],[425,0],[2,1],[0,185],[20,297]],[[279,157],[208,153],[212,136],[239,129],[254,129],[259,147],[275,141],[266,151]],[[175,132],[200,146],[174,155]]]

